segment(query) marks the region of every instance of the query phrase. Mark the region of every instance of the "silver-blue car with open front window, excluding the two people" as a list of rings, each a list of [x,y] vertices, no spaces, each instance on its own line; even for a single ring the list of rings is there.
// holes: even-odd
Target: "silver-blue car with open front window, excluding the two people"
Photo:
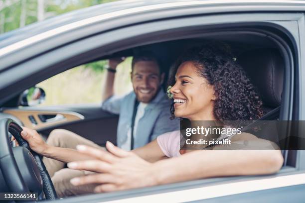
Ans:
[[[0,118],[5,121],[0,125],[3,147],[0,152],[6,150],[0,158],[0,192],[26,192],[22,186],[25,184],[23,188],[26,188],[28,184],[20,175],[23,169],[15,161],[20,158],[12,155],[11,148],[4,147],[8,143],[7,127],[12,121],[35,128],[43,135],[64,128],[101,145],[106,140],[116,140],[118,116],[103,111],[100,104],[20,106],[28,104],[25,98],[34,91],[30,88],[78,65],[133,56],[143,50],[157,53],[169,70],[181,50],[211,40],[230,44],[236,61],[258,87],[264,102],[262,120],[300,121],[298,128],[288,130],[303,138],[304,1],[105,3],[0,35]],[[42,98],[47,97],[42,89],[37,91],[41,91]],[[18,129],[10,127],[10,133]],[[304,202],[305,151],[302,149],[283,149],[283,167],[273,175],[209,178],[64,200],[50,198],[50,202]],[[4,161],[8,156],[9,161]]]

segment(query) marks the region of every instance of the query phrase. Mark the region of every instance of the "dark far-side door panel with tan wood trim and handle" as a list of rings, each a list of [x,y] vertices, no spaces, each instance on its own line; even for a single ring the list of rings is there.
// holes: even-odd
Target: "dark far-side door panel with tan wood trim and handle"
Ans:
[[[99,104],[6,108],[2,112],[18,118],[23,126],[44,137],[61,128],[99,145],[105,145],[107,140],[116,143],[118,115],[102,110]]]

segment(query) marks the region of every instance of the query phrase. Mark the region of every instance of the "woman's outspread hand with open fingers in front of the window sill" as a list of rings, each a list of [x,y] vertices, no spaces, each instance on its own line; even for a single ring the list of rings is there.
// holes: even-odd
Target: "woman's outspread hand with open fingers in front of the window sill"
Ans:
[[[71,179],[75,186],[97,183],[95,192],[111,192],[157,185],[153,176],[152,163],[145,161],[133,152],[124,151],[111,142],[106,143],[107,151],[78,145],[77,150],[92,159],[68,163],[71,169],[87,170],[98,174]]]

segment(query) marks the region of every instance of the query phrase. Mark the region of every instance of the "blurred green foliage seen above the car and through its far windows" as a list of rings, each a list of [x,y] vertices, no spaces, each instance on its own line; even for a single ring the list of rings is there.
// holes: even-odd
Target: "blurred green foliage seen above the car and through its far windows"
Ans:
[[[0,34],[65,12],[115,0],[0,0]],[[132,91],[132,57],[117,68],[115,94]],[[84,64],[47,79],[36,87],[46,93],[39,105],[100,103],[107,61]]]

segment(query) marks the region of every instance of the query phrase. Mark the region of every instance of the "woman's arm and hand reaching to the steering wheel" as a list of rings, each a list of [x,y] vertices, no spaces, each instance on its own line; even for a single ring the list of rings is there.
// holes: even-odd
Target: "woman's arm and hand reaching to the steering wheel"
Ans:
[[[74,149],[54,147],[46,144],[36,130],[32,130],[26,127],[22,127],[23,131],[21,136],[26,140],[30,148],[45,157],[56,159],[65,163],[71,161],[80,161],[92,159],[92,157],[82,154]],[[14,138],[13,138],[14,140]],[[18,145],[18,144],[17,144]]]

